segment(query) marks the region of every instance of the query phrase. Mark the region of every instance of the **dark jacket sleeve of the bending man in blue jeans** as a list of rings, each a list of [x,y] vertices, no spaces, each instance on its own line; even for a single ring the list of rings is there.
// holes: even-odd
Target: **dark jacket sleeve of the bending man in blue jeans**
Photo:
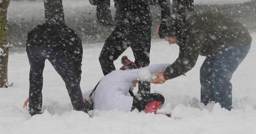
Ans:
[[[199,48],[197,44],[185,43],[184,45],[180,45],[178,58],[164,71],[166,78],[173,79],[190,71],[196,64],[198,56]]]

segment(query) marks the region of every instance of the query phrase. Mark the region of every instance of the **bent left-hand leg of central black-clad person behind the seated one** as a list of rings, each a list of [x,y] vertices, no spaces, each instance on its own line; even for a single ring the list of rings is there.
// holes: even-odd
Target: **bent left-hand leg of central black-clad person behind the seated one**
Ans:
[[[116,70],[114,61],[129,47],[126,33],[116,28],[106,39],[100,52],[99,61],[104,75]]]

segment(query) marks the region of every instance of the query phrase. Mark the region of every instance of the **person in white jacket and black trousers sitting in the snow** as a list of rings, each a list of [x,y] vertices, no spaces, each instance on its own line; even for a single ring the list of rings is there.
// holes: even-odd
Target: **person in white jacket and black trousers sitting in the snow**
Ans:
[[[92,100],[93,108],[97,110],[121,110],[131,111],[138,109],[144,110],[146,113],[156,113],[162,104],[164,104],[164,96],[158,93],[133,95],[132,90],[136,87],[139,80],[150,78],[139,77],[144,70],[151,74],[162,73],[170,64],[155,64],[137,69],[134,62],[130,61],[126,56],[122,57],[122,66],[120,70],[115,70],[104,76],[96,85],[94,90],[83,93],[85,100]],[[128,96],[128,92],[131,96]],[[89,97],[91,94],[92,97]],[[89,109],[91,110],[91,109]]]

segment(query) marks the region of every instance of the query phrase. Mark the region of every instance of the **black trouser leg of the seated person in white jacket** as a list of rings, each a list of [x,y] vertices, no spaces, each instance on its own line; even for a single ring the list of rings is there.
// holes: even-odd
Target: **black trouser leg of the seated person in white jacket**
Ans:
[[[158,93],[139,94],[133,96],[132,110],[137,108],[139,111],[145,110],[146,105],[152,101],[159,101],[164,104],[164,96]]]

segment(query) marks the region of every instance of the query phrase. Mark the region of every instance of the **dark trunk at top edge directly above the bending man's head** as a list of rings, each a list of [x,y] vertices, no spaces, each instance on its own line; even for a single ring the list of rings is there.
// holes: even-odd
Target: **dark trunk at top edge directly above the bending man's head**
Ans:
[[[172,13],[182,14],[194,11],[194,0],[172,0]]]

